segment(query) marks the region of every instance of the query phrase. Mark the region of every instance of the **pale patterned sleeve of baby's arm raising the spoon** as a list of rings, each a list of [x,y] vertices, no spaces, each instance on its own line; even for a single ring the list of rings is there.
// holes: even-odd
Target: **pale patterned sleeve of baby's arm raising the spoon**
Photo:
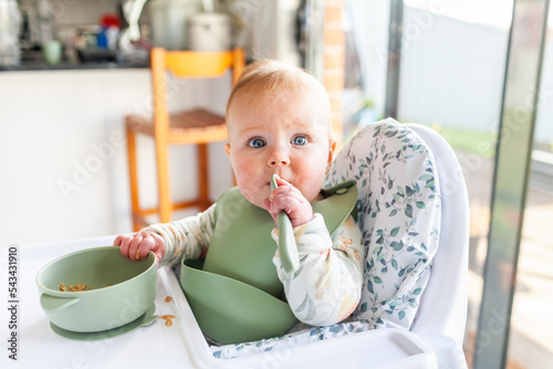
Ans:
[[[313,326],[336,324],[353,313],[363,284],[362,234],[348,217],[331,239],[323,215],[294,228],[300,270],[286,273],[276,252],[273,263],[288,303],[301,321]],[[278,233],[273,231],[278,241]]]

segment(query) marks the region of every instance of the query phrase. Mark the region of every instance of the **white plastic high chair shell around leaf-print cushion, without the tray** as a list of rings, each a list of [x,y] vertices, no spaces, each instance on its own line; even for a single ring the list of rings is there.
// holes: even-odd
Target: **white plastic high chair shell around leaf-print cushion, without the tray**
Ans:
[[[234,359],[213,358],[189,308],[186,345],[206,368],[261,367],[373,369],[466,369],[462,340],[467,318],[469,202],[461,167],[449,144],[435,130],[406,124],[434,154],[441,193],[438,250],[428,284],[409,330],[384,328],[280,348]],[[363,201],[363,199],[361,199]],[[178,282],[174,280],[174,288]],[[185,314],[186,313],[186,314]]]

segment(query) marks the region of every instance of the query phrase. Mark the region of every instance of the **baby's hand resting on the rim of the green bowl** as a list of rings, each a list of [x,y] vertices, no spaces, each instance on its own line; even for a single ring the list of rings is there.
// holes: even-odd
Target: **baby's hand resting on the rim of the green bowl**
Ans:
[[[133,261],[145,260],[148,256],[148,252],[153,251],[158,264],[164,259],[167,250],[165,241],[159,234],[146,231],[118,235],[113,244],[121,246],[121,254]]]

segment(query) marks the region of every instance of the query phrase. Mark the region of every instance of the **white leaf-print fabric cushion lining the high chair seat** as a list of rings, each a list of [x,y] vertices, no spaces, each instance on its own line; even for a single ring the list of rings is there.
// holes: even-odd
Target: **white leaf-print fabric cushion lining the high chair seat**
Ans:
[[[213,346],[212,354],[233,358],[368,329],[409,329],[438,247],[441,209],[436,170],[425,143],[396,120],[380,120],[358,131],[334,160],[325,183],[357,182],[364,277],[361,302],[348,321],[303,326],[257,342]],[[347,242],[342,245],[345,250]],[[309,312],[310,301],[301,306]]]

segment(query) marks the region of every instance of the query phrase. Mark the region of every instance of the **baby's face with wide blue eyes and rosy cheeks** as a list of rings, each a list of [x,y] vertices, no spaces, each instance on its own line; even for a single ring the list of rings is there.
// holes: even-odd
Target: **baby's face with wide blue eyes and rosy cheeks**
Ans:
[[[316,95],[244,92],[236,96],[227,124],[226,150],[246,199],[262,208],[278,173],[307,201],[315,200],[334,150]]]

